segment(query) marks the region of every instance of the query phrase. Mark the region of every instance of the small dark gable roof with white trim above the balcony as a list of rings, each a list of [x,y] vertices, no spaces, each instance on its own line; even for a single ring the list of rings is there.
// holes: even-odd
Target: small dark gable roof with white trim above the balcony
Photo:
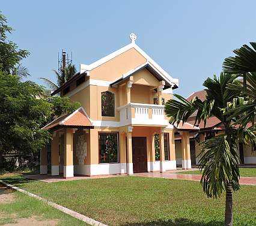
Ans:
[[[163,76],[162,74],[160,74],[160,72],[153,66],[150,64],[150,62],[145,62],[145,64],[140,65],[137,68],[134,68],[133,70],[128,71],[127,73],[124,73],[122,77],[120,77],[120,79],[115,80],[115,82],[111,83],[111,87],[115,87],[117,85],[119,85],[120,83],[124,82],[124,80],[127,80],[130,76],[133,76],[133,74],[137,73],[138,71],[141,71],[143,69],[147,69],[151,74],[153,74],[154,77],[156,77],[157,80],[161,81],[164,80],[165,81],[165,88],[163,89],[168,89],[168,88],[178,88],[177,85],[172,85],[171,83],[169,83]]]

